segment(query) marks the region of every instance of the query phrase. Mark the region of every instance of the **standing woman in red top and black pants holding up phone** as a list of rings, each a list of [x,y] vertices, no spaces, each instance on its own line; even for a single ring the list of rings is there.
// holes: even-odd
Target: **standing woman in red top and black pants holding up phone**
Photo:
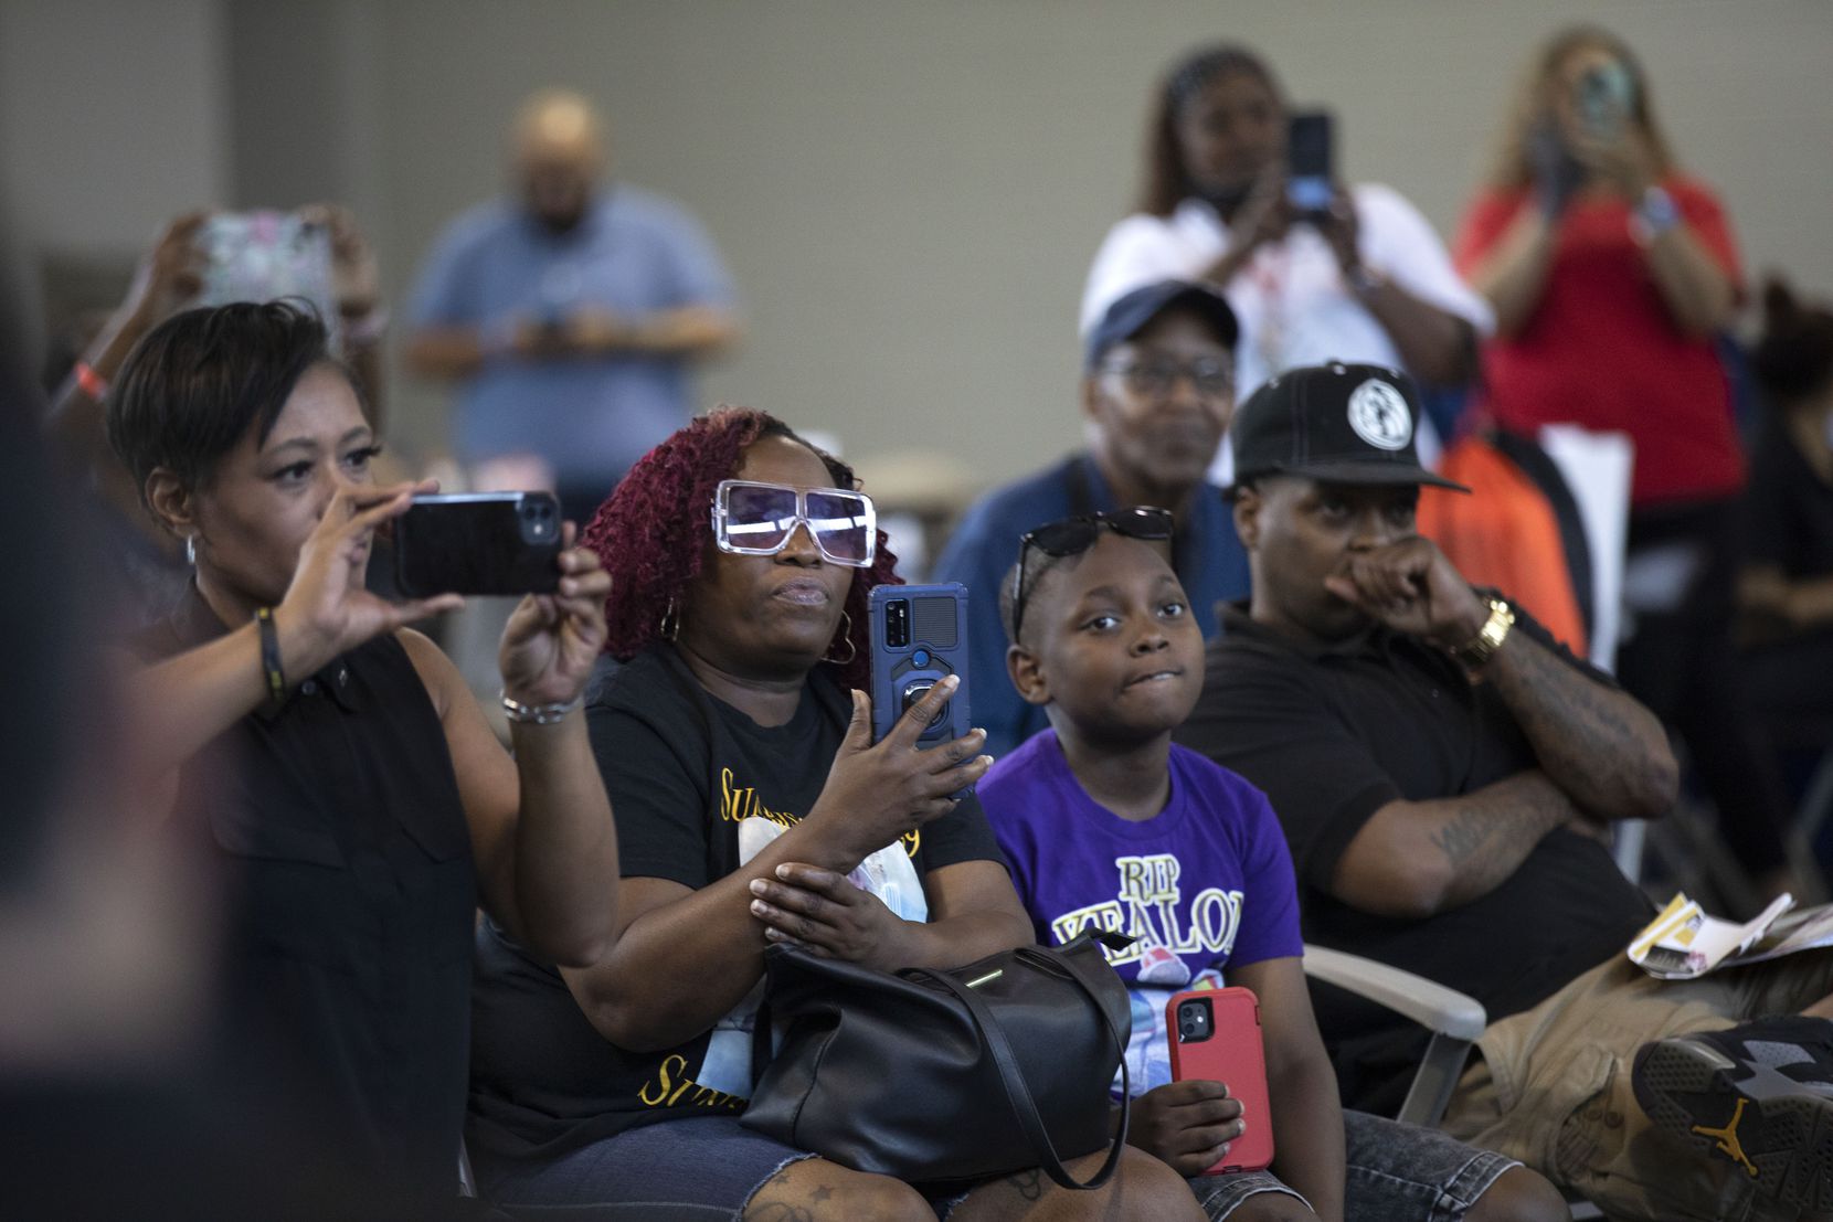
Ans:
[[[1738,306],[1738,251],[1718,200],[1679,172],[1615,35],[1567,29],[1536,55],[1455,260],[1496,310],[1492,420],[1633,440],[1635,636],[1619,671],[1681,731],[1745,872],[1787,887],[1784,799],[1749,738],[1730,649],[1743,453],[1714,343]]]

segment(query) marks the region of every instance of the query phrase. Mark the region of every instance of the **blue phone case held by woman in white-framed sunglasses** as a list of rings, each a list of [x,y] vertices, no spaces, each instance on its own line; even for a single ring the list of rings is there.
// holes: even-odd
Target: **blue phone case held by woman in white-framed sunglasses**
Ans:
[[[933,747],[966,735],[973,727],[968,705],[968,588],[959,581],[874,586],[871,616],[873,742],[891,733],[904,711],[948,674],[959,676],[960,687],[916,746]]]

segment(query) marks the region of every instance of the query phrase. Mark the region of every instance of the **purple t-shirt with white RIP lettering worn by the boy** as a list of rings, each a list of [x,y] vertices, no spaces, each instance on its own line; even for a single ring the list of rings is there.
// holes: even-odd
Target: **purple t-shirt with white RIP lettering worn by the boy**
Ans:
[[[1092,801],[1045,729],[993,764],[975,793],[1012,867],[1037,942],[1089,925],[1136,942],[1107,960],[1133,993],[1133,1092],[1169,1081],[1164,1002],[1221,987],[1228,964],[1303,955],[1298,885],[1267,795],[1171,746],[1171,797],[1133,823]]]

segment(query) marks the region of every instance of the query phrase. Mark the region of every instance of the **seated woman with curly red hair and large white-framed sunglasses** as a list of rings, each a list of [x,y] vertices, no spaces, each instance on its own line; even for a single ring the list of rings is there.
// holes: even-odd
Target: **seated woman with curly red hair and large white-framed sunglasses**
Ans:
[[[555,971],[495,925],[478,934],[469,1132],[500,1202],[812,1220],[957,1204],[737,1118],[772,942],[885,971],[1032,942],[979,801],[951,797],[992,764],[984,731],[915,746],[953,683],[873,744],[867,595],[898,579],[854,484],[772,416],[720,410],[643,456],[587,529],[625,661],[588,709],[618,808],[620,942]],[[1028,1174],[953,1217],[1201,1213],[1129,1151],[1100,1191]]]

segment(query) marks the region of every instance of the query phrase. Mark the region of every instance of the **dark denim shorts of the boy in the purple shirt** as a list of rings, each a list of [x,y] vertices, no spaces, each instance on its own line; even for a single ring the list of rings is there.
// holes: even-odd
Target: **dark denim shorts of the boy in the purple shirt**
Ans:
[[[1437,1129],[1344,1112],[1344,1213],[1366,1222],[1455,1222],[1521,1163],[1477,1151]],[[1210,1218],[1226,1218],[1256,1193],[1292,1189],[1267,1171],[1190,1182]]]

